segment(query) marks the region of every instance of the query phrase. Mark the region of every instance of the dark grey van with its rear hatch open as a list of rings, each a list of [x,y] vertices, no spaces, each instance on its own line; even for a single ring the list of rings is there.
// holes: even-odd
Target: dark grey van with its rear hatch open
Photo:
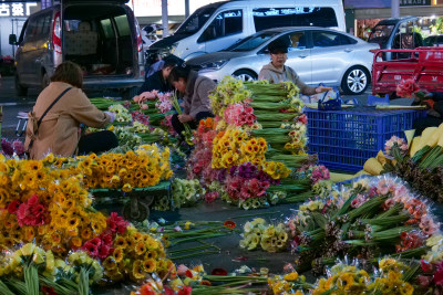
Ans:
[[[136,94],[144,81],[143,43],[128,0],[65,0],[33,13],[19,39],[10,35],[16,52],[16,88],[45,87],[63,61],[78,63],[84,89],[116,89]]]

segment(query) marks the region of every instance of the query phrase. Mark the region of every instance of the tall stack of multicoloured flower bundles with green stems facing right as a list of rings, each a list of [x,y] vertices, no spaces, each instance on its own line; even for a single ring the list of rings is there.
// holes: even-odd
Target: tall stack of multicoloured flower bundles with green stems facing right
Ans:
[[[248,209],[312,196],[292,198],[316,182],[297,171],[316,161],[305,152],[307,117],[297,95],[291,83],[225,77],[218,84],[210,96],[216,118],[200,122],[187,164],[188,178],[202,181],[208,200]]]

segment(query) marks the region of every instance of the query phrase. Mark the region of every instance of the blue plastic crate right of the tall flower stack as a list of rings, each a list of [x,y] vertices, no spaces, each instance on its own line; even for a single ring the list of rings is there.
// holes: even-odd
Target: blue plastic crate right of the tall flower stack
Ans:
[[[330,169],[359,171],[364,161],[384,148],[393,135],[404,138],[416,118],[425,112],[413,109],[380,110],[356,106],[343,110],[306,109],[309,152]]]

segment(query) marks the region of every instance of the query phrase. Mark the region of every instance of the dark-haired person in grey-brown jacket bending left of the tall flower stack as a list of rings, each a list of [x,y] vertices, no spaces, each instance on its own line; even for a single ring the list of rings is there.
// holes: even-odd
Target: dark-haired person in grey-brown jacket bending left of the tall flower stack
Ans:
[[[171,84],[183,95],[183,114],[172,117],[174,129],[182,134],[185,129],[184,123],[190,128],[196,128],[202,119],[214,117],[210,109],[209,93],[217,84],[208,77],[199,76],[197,72],[188,66],[176,66],[171,71]]]

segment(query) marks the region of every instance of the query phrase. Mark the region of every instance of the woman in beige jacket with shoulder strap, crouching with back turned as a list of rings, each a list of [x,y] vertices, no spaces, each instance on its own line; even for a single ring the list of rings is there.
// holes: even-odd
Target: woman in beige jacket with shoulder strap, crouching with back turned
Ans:
[[[24,147],[30,158],[42,159],[48,152],[63,157],[73,156],[76,151],[101,152],[119,145],[112,131],[80,138],[80,124],[103,128],[114,120],[113,113],[104,113],[91,104],[81,89],[82,85],[82,71],[76,64],[65,62],[55,69],[51,83],[40,93],[33,110],[29,113]],[[49,109],[63,92],[64,95]]]

